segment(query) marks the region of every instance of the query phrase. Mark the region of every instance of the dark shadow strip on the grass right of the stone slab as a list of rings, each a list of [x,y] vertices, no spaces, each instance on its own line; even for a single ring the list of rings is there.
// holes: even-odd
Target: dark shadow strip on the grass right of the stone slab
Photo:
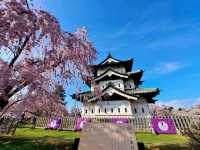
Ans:
[[[169,145],[152,145],[145,148],[146,150],[190,150],[188,145],[169,144]]]

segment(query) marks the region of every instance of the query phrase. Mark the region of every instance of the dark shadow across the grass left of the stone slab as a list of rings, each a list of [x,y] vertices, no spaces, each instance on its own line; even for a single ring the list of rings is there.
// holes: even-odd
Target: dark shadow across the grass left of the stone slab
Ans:
[[[0,150],[71,150],[73,140],[62,138],[0,137]]]

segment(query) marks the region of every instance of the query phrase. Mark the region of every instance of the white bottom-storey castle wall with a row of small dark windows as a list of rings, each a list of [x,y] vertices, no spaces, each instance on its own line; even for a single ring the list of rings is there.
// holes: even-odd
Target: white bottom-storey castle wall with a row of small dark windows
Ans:
[[[150,116],[150,109],[145,99],[140,99],[138,102],[132,102],[128,100],[98,101],[96,103],[85,105],[82,110],[82,116],[147,117]]]

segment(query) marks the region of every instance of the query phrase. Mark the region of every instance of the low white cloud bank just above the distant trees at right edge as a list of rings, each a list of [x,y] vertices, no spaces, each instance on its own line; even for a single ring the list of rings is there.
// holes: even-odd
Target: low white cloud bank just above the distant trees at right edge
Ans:
[[[198,98],[186,98],[186,99],[174,99],[158,101],[157,104],[164,106],[172,106],[176,109],[178,108],[191,108],[197,104],[200,104],[200,97]]]

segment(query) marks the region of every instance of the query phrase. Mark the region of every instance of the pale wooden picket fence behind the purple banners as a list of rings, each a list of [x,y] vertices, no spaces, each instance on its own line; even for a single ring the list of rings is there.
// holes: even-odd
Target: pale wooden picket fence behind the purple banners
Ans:
[[[191,124],[200,122],[200,117],[194,116],[154,116],[155,118],[171,118],[174,121],[175,127],[180,133],[184,133]],[[110,123],[113,117],[91,117],[91,122],[99,123]],[[121,118],[121,117],[120,117]],[[138,118],[129,117],[127,118],[129,123],[133,125],[136,132],[153,132],[151,119],[152,117]],[[60,130],[75,130],[77,118],[67,117],[62,118]],[[47,128],[48,119],[47,118],[37,118],[36,128]]]

